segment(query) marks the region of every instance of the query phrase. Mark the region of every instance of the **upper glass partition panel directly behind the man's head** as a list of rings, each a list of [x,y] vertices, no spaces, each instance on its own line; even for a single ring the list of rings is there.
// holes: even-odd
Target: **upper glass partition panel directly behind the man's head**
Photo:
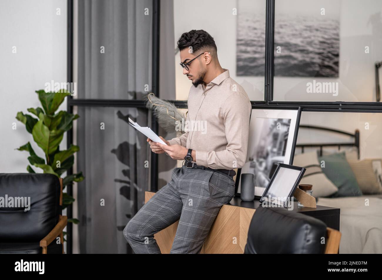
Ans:
[[[176,42],[192,29],[203,29],[214,38],[220,65],[250,100],[264,100],[265,1],[174,1],[173,17],[176,100],[187,100],[191,87],[179,65]]]

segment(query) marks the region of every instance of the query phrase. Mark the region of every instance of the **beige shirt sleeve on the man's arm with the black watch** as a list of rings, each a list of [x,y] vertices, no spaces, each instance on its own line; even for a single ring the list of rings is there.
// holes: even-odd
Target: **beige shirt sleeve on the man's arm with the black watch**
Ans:
[[[242,92],[232,93],[224,102],[223,117],[227,148],[222,151],[196,150],[196,164],[212,169],[244,166],[248,148],[251,101]]]

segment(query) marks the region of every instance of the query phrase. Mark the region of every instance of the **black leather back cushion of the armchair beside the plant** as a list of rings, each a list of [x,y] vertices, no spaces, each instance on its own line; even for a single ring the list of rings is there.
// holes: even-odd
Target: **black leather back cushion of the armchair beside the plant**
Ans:
[[[36,242],[39,247],[62,213],[60,180],[53,174],[0,173],[0,197],[6,195],[29,197],[30,209],[0,207],[0,242],[22,240]]]

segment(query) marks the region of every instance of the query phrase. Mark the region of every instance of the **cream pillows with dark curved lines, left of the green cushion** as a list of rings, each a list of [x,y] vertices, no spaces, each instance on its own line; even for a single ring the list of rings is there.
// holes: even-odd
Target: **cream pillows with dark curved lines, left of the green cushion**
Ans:
[[[313,185],[312,196],[326,197],[338,191],[333,182],[322,172],[316,151],[295,155],[293,165],[306,168],[300,184]]]

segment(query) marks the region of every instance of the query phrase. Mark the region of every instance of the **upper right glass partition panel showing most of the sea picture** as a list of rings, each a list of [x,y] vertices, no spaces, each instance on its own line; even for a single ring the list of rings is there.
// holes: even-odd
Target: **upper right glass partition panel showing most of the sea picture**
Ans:
[[[381,1],[276,0],[274,100],[379,101],[381,12]]]

